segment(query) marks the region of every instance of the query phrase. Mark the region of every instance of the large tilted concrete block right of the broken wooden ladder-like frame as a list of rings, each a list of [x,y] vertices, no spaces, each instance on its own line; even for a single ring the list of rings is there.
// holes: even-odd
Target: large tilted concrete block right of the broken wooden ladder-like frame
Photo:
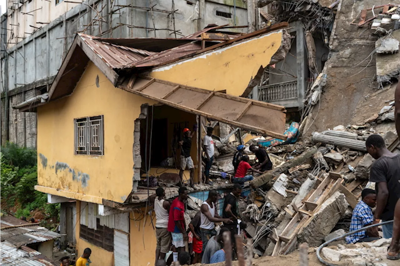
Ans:
[[[349,204],[344,194],[336,191],[329,199],[325,200],[320,209],[306,222],[297,235],[298,241],[307,242],[310,246],[322,244],[325,236],[336,226],[344,216]]]

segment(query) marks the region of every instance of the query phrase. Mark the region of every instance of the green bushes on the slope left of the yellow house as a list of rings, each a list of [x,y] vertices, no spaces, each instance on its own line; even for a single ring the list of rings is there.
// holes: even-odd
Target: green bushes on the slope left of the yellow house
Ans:
[[[47,195],[34,190],[37,185],[36,151],[14,143],[0,147],[0,209],[16,217],[32,217],[40,211],[57,218],[60,204],[47,204]]]

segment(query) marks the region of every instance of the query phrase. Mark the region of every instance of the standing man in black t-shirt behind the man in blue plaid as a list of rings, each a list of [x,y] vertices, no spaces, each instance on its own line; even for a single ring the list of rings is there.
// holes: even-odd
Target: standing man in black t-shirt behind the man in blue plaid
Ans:
[[[386,149],[384,139],[379,135],[371,135],[366,143],[368,153],[376,159],[371,166],[370,181],[375,182],[376,210],[374,223],[392,220],[394,208],[400,198],[400,155]],[[378,230],[375,227],[375,230]],[[391,238],[393,223],[382,226],[384,238]]]

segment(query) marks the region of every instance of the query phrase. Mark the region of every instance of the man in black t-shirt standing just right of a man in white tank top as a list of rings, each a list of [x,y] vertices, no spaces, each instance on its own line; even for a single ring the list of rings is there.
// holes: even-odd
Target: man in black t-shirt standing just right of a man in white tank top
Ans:
[[[224,222],[224,227],[231,232],[231,240],[234,243],[234,236],[238,233],[238,198],[242,193],[242,187],[239,184],[233,186],[233,191],[225,196],[224,208],[222,209],[222,218],[229,218],[232,222]]]

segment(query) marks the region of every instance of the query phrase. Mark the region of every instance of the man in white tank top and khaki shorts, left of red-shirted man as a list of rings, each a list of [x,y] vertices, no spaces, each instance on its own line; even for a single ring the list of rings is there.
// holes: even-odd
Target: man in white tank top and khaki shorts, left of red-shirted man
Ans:
[[[171,233],[168,231],[168,219],[170,213],[170,202],[165,200],[164,189],[156,190],[157,197],[154,199],[154,212],[156,213],[156,263],[158,259],[165,260],[165,254],[170,250]]]

